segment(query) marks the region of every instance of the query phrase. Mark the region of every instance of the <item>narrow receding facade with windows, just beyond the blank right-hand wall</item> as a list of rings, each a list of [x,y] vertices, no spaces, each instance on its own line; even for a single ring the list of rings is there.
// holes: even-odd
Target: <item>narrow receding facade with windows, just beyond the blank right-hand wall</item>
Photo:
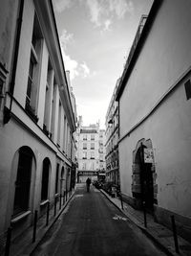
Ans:
[[[106,113],[106,181],[113,182],[117,186],[120,184],[118,171],[118,103],[116,93],[118,82],[115,86],[110,105]]]

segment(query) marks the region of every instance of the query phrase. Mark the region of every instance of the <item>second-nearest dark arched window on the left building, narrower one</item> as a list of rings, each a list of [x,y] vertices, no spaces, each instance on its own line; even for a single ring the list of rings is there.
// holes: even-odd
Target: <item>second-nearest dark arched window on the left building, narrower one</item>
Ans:
[[[42,187],[41,187],[41,200],[47,200],[49,192],[49,171],[50,171],[50,160],[45,158],[43,161],[42,170]]]

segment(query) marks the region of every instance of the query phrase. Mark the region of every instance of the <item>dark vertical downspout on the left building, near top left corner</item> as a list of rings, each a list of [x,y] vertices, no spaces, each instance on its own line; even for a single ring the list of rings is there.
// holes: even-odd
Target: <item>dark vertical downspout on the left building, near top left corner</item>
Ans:
[[[8,124],[11,119],[11,106],[12,106],[12,101],[13,101],[16,67],[17,67],[18,51],[19,51],[19,44],[20,44],[23,7],[24,7],[24,0],[20,0],[19,14],[18,14],[18,18],[17,18],[15,47],[14,47],[13,62],[12,62],[11,83],[10,83],[10,90],[9,90],[9,93],[11,94],[11,103],[10,103],[10,108],[8,108],[8,107],[4,108],[4,124]]]

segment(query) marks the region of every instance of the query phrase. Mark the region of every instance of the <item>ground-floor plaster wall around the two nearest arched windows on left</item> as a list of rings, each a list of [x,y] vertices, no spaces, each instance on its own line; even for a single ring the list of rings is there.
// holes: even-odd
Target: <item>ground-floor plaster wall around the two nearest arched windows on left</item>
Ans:
[[[36,171],[33,174],[33,193],[31,194],[31,211],[39,209],[41,200],[41,178],[42,162],[45,157],[51,161],[51,174],[49,183],[49,198],[53,200],[55,187],[56,171],[56,153],[49,147],[46,147],[38,138],[32,135],[14,122],[12,119],[3,132],[0,132],[0,140],[4,147],[0,147],[0,233],[8,227],[11,221],[13,200],[14,200],[14,182],[16,179],[16,170],[12,169],[12,160],[16,151],[22,146],[28,146],[32,149],[35,156]]]

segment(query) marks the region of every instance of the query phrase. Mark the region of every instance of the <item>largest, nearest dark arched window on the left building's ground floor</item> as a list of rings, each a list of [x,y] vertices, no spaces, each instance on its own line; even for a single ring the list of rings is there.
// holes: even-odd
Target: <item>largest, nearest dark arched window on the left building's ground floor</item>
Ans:
[[[13,216],[28,210],[31,189],[32,150],[28,147],[22,147],[18,152],[19,157],[15,182]]]

